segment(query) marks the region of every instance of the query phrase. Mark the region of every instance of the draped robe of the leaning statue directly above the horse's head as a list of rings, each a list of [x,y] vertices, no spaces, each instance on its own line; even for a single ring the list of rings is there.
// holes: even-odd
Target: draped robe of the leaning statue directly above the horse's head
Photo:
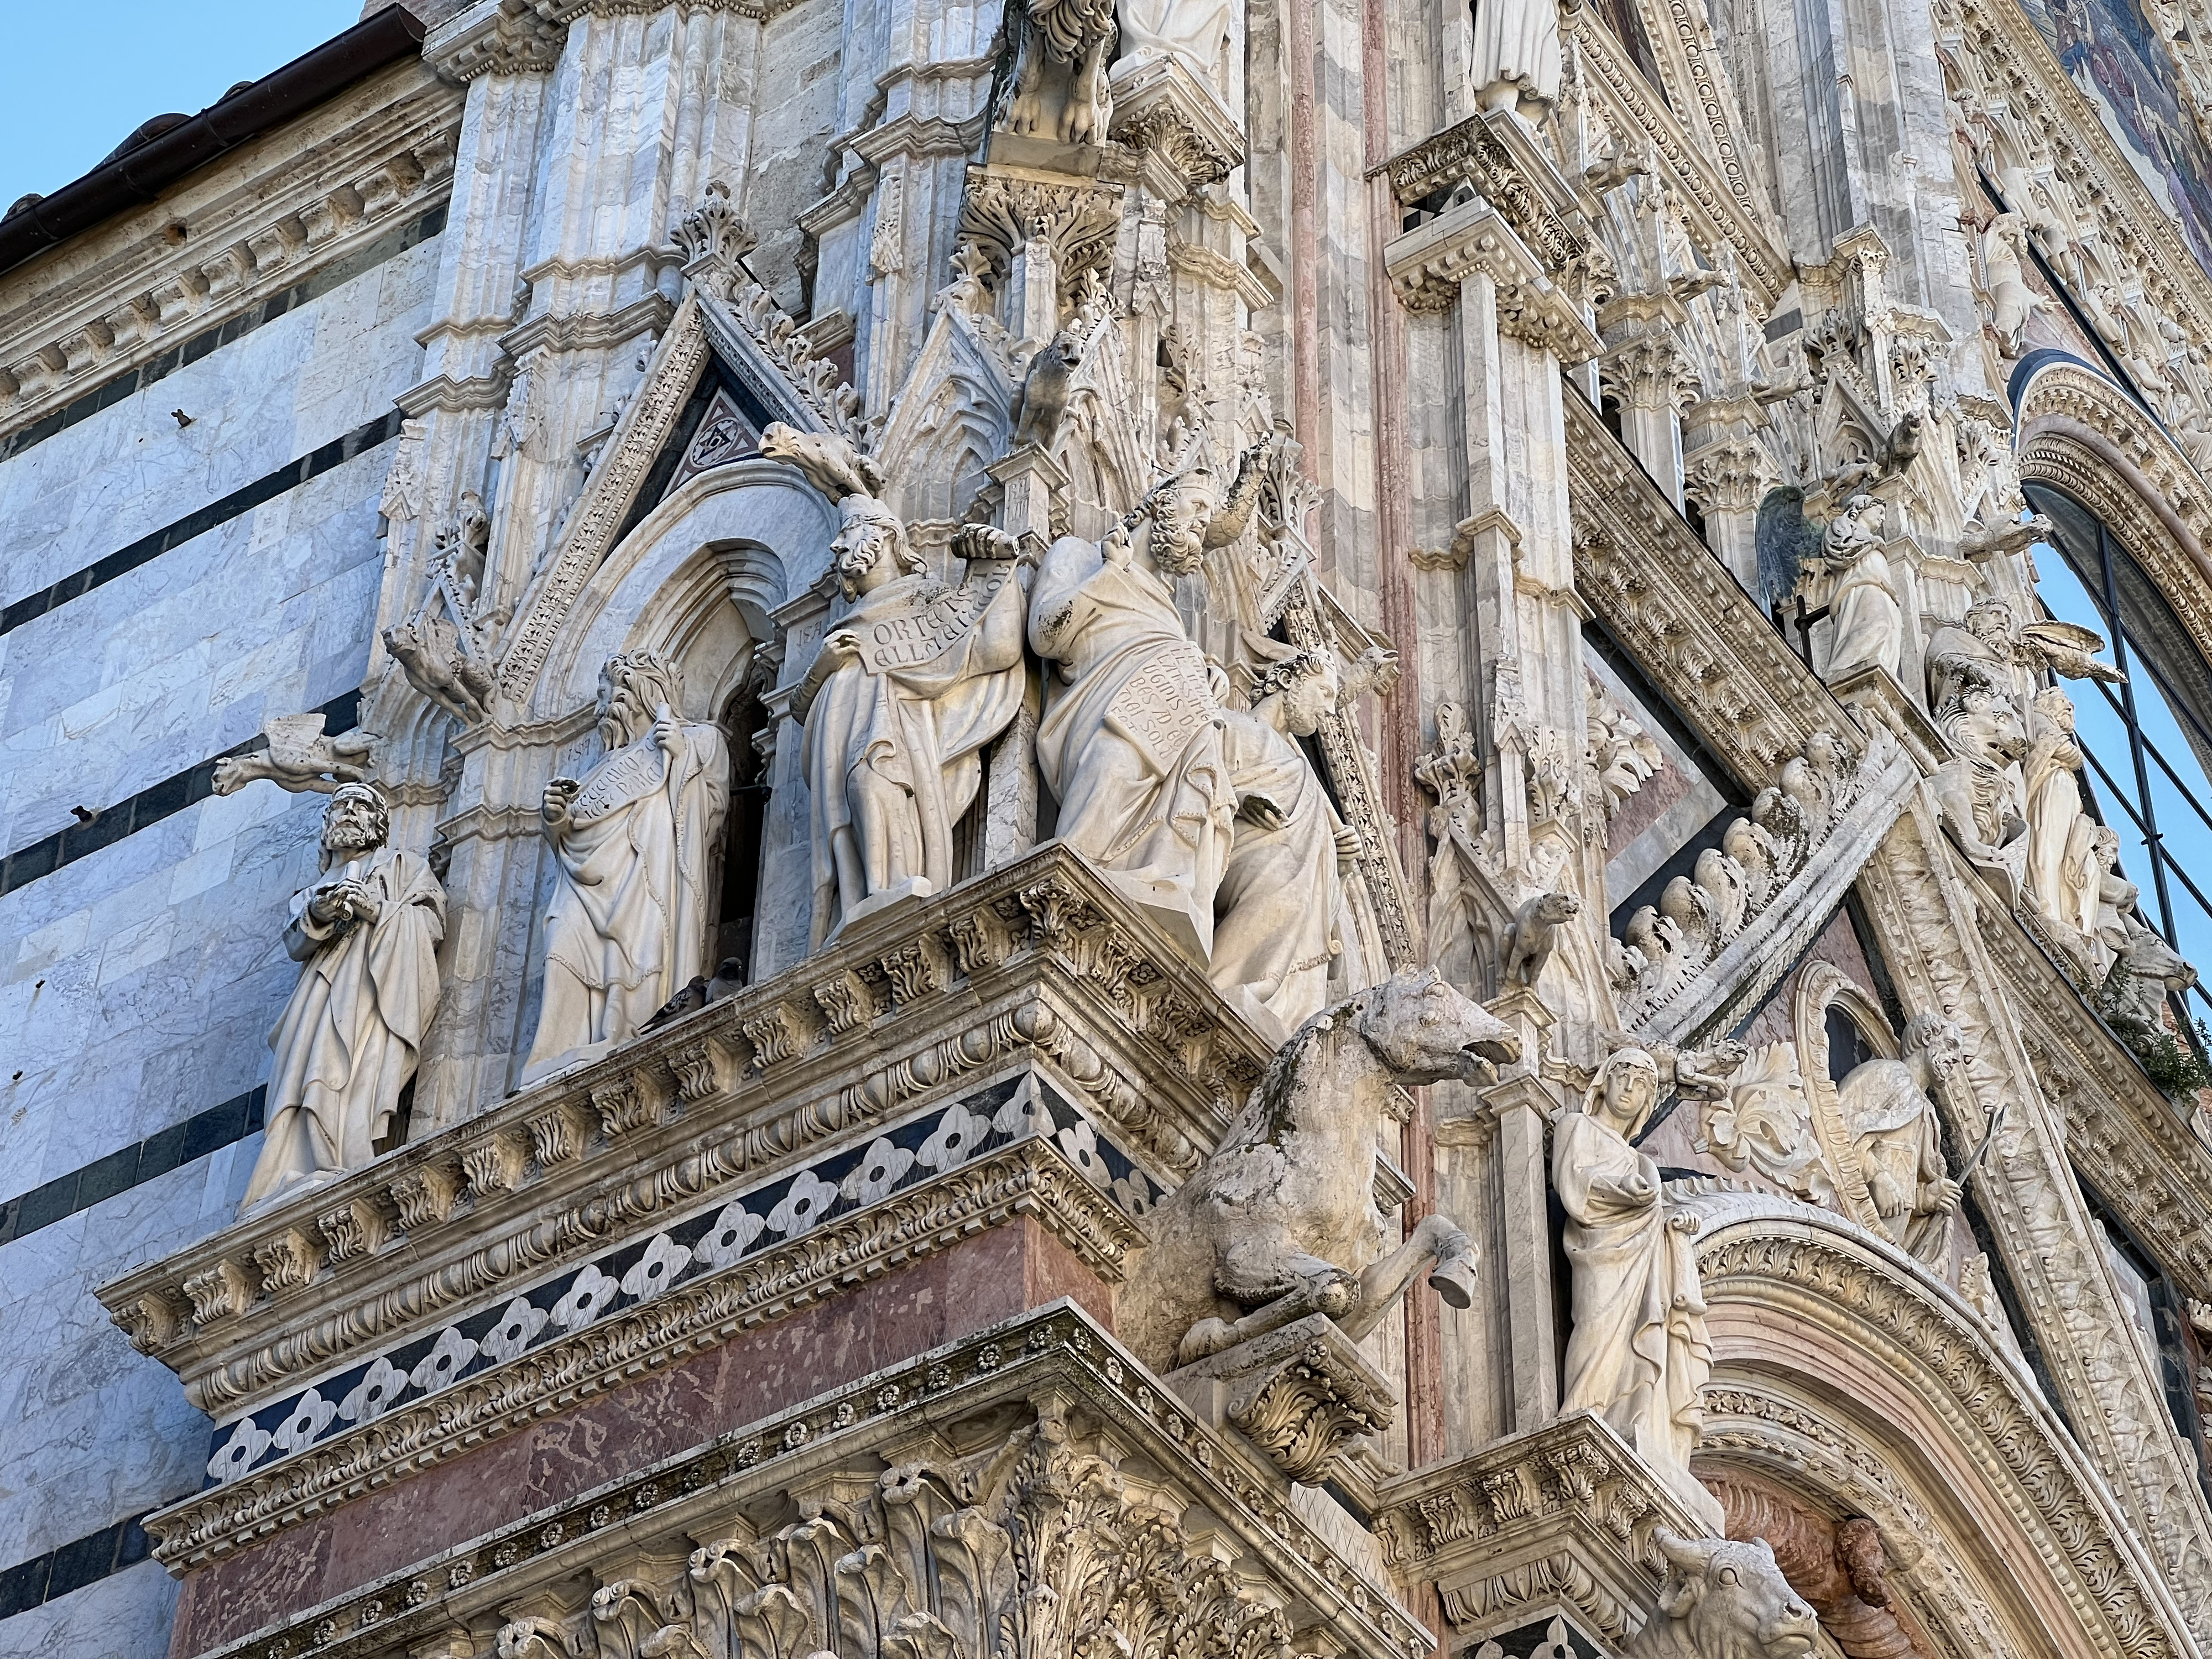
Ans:
[[[1336,914],[1345,898],[1336,869],[1343,818],[1305,752],[1263,714],[1223,710],[1221,745],[1237,799],[1256,794],[1274,803],[1283,823],[1263,830],[1237,821],[1214,889],[1208,973],[1230,1002],[1259,1004],[1281,1024],[1281,1033],[1270,1035],[1287,1040],[1329,1000]]]

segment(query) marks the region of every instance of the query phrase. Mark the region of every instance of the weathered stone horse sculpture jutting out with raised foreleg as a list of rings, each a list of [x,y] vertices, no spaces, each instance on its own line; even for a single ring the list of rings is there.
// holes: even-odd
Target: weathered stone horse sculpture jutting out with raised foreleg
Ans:
[[[1389,1091],[1495,1082],[1511,1029],[1433,969],[1407,969],[1325,1013],[1276,1053],[1212,1157],[1152,1219],[1152,1245],[1115,1305],[1117,1334],[1166,1371],[1310,1314],[1352,1340],[1433,1263],[1453,1307],[1473,1296],[1473,1243],[1444,1214],[1383,1248],[1374,1152]]]

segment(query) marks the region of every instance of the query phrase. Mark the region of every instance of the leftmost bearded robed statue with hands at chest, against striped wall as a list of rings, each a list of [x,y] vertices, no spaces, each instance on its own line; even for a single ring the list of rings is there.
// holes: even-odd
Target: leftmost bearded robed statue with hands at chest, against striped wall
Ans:
[[[283,931],[301,975],[270,1031],[268,1135],[248,1210],[369,1161],[438,1013],[445,887],[427,858],[385,845],[389,834],[376,785],[336,785],[323,878],[292,898]]]

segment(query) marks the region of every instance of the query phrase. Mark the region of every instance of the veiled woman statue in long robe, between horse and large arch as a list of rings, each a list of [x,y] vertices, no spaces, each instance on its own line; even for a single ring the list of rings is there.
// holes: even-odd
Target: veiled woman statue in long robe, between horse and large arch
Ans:
[[[1559,1409],[1597,1411],[1668,1484],[1688,1491],[1712,1343],[1697,1217],[1668,1201],[1659,1166],[1630,1144],[1657,1104],[1659,1062],[1621,1048],[1553,1130],[1551,1183],[1566,1208],[1575,1314]]]

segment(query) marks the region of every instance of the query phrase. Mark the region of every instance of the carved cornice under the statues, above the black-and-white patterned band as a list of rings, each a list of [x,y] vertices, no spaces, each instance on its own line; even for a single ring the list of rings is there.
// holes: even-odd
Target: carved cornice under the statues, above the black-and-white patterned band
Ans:
[[[697,1210],[1029,1053],[1166,1181],[1267,1060],[1177,947],[1064,847],[874,918],[637,1037],[102,1290],[217,1416]],[[635,1102],[615,1117],[606,1102]],[[622,1181],[611,1183],[611,1172]],[[312,1296],[274,1294],[279,1241]]]

